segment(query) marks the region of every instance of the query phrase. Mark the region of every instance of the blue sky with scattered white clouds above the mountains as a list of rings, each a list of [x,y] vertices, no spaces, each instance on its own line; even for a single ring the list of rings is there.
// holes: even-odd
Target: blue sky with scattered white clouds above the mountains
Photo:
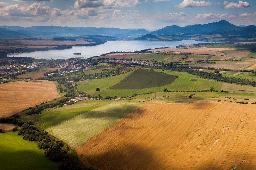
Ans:
[[[225,19],[256,25],[256,0],[0,0],[0,26],[160,29]]]

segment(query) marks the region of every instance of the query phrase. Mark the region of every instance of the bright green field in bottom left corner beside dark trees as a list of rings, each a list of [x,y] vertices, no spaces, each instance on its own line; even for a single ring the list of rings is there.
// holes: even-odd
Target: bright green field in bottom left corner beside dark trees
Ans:
[[[0,169],[57,169],[58,163],[48,160],[36,142],[23,140],[17,132],[0,134]]]

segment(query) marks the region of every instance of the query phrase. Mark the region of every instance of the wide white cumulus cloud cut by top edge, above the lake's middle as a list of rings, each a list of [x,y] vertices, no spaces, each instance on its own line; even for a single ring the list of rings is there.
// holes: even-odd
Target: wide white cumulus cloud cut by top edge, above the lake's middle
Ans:
[[[140,4],[139,0],[76,0],[74,8],[90,8],[100,7],[116,8],[116,7],[134,7]]]

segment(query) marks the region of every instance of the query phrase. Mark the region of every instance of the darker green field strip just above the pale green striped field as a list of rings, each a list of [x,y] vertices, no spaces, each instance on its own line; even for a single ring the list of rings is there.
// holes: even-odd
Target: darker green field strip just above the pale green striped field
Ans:
[[[73,105],[66,105],[49,111],[44,111],[40,114],[40,118],[45,121],[41,126],[43,129],[50,128],[71,118],[95,109],[97,107],[109,104],[111,101],[102,100],[83,100]]]

